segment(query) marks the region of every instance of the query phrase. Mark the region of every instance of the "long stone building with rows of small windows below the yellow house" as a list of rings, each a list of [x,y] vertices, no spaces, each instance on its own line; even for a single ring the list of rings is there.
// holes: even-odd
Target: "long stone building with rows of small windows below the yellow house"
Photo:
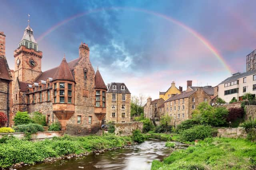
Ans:
[[[192,118],[192,111],[196,109],[201,102],[211,104],[211,98],[214,96],[212,86],[196,87],[189,86],[181,94],[176,94],[164,102],[164,114],[170,115],[171,124],[176,126],[182,121]]]

